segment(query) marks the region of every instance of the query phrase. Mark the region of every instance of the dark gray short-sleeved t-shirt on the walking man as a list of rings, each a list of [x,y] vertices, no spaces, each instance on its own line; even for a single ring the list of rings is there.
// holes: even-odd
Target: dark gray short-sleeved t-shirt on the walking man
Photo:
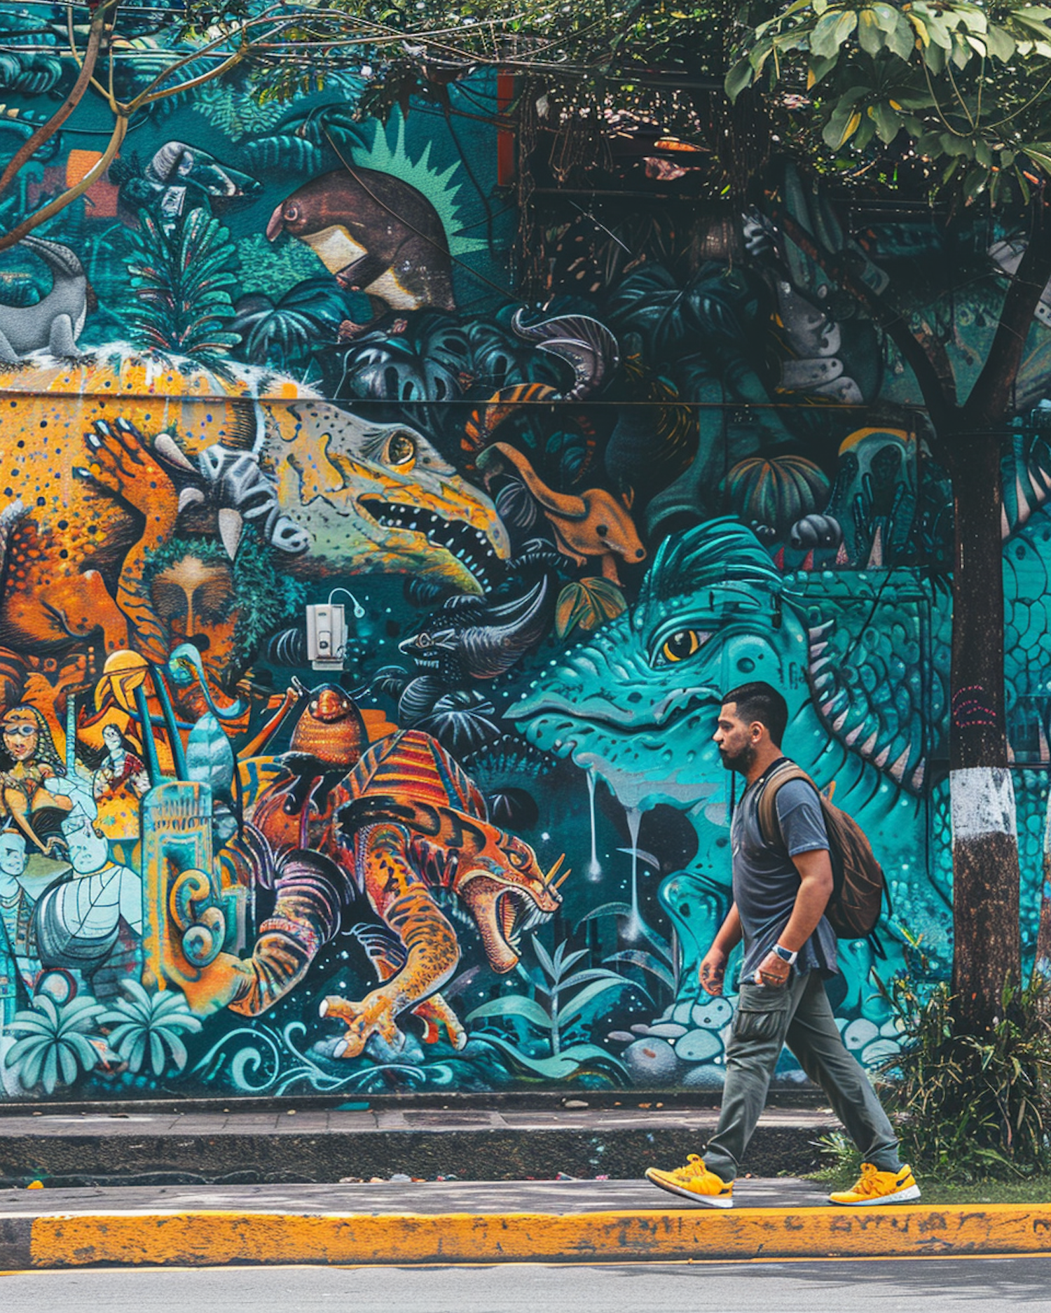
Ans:
[[[795,907],[799,872],[791,859],[800,852],[828,848],[825,818],[817,793],[805,780],[788,780],[778,789],[776,809],[784,846],[763,843],[759,830],[761,781],[750,786],[733,813],[733,901],[745,935],[741,979],[751,981],[759,964],[776,944]],[[832,976],[836,965],[836,931],[825,916],[799,951],[796,970],[817,968]]]

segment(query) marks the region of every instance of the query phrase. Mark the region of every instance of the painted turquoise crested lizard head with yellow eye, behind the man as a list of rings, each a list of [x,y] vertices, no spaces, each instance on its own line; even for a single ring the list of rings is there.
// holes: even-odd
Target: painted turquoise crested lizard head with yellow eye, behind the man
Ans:
[[[742,524],[667,538],[635,609],[574,647],[507,713],[539,747],[594,769],[625,806],[721,807],[711,741],[723,693],[766,679],[809,697],[807,629]]]

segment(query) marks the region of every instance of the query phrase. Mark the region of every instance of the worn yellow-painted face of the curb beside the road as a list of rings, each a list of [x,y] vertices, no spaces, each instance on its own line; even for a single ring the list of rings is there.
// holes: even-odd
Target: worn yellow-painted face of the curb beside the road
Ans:
[[[150,1212],[33,1218],[28,1267],[1051,1253],[1051,1204],[595,1213]]]

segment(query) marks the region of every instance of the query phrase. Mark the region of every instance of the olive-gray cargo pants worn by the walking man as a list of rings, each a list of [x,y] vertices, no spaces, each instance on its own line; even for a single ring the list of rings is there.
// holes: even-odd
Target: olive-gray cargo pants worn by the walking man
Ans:
[[[795,970],[780,989],[741,982],[719,1129],[708,1141],[704,1166],[723,1180],[737,1175],[784,1044],[825,1091],[862,1159],[880,1171],[896,1171],[901,1162],[893,1127],[839,1036],[820,973]]]

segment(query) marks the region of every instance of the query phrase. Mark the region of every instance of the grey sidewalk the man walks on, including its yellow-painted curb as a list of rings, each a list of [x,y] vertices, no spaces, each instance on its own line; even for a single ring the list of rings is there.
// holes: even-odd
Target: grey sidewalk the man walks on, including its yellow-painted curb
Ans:
[[[734,1208],[640,1180],[160,1186],[0,1192],[0,1268],[1033,1254],[1051,1204],[842,1209],[742,1179]]]

